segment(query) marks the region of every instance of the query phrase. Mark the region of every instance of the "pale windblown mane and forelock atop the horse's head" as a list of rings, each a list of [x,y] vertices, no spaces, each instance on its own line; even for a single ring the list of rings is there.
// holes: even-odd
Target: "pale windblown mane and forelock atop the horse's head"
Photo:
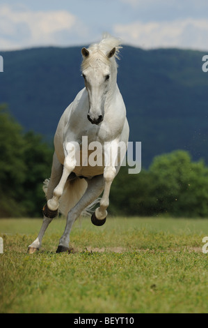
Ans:
[[[90,55],[83,58],[81,69],[85,70],[88,66],[95,66],[99,60],[106,65],[110,65],[111,59],[109,59],[106,54],[115,47],[115,54],[113,58],[114,60],[115,58],[119,59],[118,54],[120,48],[122,48],[120,44],[121,40],[119,38],[114,38],[109,33],[104,33],[102,40],[99,43],[93,43],[88,47]]]

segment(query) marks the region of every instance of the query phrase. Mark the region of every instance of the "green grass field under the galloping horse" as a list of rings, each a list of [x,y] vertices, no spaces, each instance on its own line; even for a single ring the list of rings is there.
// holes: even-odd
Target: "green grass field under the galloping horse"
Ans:
[[[207,219],[108,218],[74,223],[74,252],[56,254],[65,220],[29,255],[39,219],[0,220],[1,313],[207,313]]]

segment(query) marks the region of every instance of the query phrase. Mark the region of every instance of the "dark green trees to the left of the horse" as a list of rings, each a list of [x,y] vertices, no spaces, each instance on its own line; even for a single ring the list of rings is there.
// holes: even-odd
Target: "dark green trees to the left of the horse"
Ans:
[[[53,151],[40,135],[23,133],[6,105],[0,106],[0,154],[0,217],[40,216]]]

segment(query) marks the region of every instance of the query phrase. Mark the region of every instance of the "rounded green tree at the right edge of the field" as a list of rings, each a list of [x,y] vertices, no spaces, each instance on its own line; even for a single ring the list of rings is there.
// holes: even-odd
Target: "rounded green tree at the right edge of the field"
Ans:
[[[154,158],[150,174],[159,213],[208,215],[208,168],[204,161],[192,162],[188,152],[173,151]]]

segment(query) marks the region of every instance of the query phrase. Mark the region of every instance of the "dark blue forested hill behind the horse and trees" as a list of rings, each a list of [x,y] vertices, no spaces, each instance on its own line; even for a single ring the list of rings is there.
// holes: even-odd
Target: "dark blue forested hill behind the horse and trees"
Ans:
[[[51,140],[65,107],[83,87],[81,47],[1,52],[0,103],[26,130]],[[130,140],[142,142],[142,165],[173,149],[208,163],[208,72],[205,52],[124,46],[118,85],[127,107]]]

